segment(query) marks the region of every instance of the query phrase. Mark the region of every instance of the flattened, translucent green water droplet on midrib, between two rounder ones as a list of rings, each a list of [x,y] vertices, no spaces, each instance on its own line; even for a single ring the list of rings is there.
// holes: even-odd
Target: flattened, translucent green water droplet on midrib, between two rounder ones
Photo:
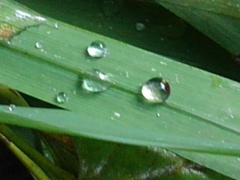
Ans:
[[[83,78],[82,88],[94,93],[106,91],[111,85],[110,77],[109,74],[91,69],[86,72],[86,77]]]

